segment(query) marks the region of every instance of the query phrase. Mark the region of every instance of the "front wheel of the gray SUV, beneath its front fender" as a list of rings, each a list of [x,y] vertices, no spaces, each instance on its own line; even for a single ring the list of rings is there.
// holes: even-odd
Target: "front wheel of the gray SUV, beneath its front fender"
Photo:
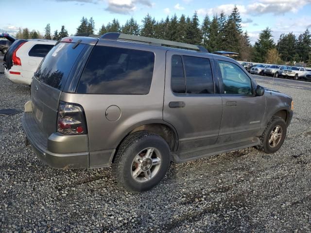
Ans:
[[[283,118],[273,116],[264,132],[259,136],[260,144],[256,149],[270,154],[275,153],[283,145],[287,133],[287,126]]]

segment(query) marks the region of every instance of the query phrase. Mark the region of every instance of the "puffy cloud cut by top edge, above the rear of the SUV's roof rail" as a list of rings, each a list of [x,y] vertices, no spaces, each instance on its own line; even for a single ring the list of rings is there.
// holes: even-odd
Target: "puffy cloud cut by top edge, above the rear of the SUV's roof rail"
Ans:
[[[108,0],[108,7],[105,9],[110,13],[129,14],[137,9],[137,4],[152,7],[149,0]]]

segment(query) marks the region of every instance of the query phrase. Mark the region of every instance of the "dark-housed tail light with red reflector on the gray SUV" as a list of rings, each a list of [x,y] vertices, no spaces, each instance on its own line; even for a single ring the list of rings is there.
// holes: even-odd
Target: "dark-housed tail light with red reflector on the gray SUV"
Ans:
[[[82,106],[61,101],[58,107],[57,131],[63,134],[86,134],[86,118]]]

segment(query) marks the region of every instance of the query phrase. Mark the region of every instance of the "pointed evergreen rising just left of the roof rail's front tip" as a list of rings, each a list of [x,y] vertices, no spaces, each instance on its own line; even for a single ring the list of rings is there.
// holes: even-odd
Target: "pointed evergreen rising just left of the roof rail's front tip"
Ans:
[[[186,43],[200,45],[202,43],[202,32],[197,13],[195,12],[186,29]]]

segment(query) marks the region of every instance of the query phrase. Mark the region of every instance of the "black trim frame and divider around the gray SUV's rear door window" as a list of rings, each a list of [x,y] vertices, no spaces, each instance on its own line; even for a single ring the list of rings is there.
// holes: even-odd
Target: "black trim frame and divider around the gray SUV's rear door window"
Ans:
[[[181,56],[181,60],[182,60],[182,64],[183,64],[183,70],[184,70],[184,80],[185,80],[185,93],[176,93],[173,91],[172,88],[172,58],[174,55],[177,56]],[[214,88],[214,93],[187,93],[187,73],[186,73],[186,67],[185,67],[185,62],[184,62],[184,56],[187,57],[197,57],[197,58],[203,58],[203,59],[208,59],[209,60],[209,65],[210,65],[210,70],[212,73],[212,81],[213,81],[213,88]],[[213,71],[213,59],[212,58],[208,58],[208,57],[201,57],[201,56],[193,56],[192,54],[188,55],[188,54],[177,54],[174,53],[171,55],[171,61],[170,61],[170,65],[171,65],[171,73],[170,73],[170,78],[171,78],[171,83],[170,83],[170,87],[171,87],[171,91],[173,93],[174,96],[178,96],[178,97],[190,97],[190,96],[211,96],[211,95],[217,95],[219,93],[217,93],[217,88],[216,88],[216,80],[215,80],[215,75],[214,75],[214,71]]]

